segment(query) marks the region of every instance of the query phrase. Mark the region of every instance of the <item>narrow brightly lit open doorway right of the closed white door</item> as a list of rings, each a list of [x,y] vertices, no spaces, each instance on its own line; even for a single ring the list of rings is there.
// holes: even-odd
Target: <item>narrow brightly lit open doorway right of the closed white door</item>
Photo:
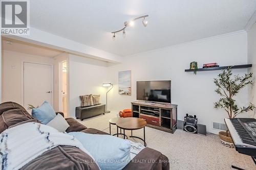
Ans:
[[[67,61],[60,62],[60,110],[67,115]]]

